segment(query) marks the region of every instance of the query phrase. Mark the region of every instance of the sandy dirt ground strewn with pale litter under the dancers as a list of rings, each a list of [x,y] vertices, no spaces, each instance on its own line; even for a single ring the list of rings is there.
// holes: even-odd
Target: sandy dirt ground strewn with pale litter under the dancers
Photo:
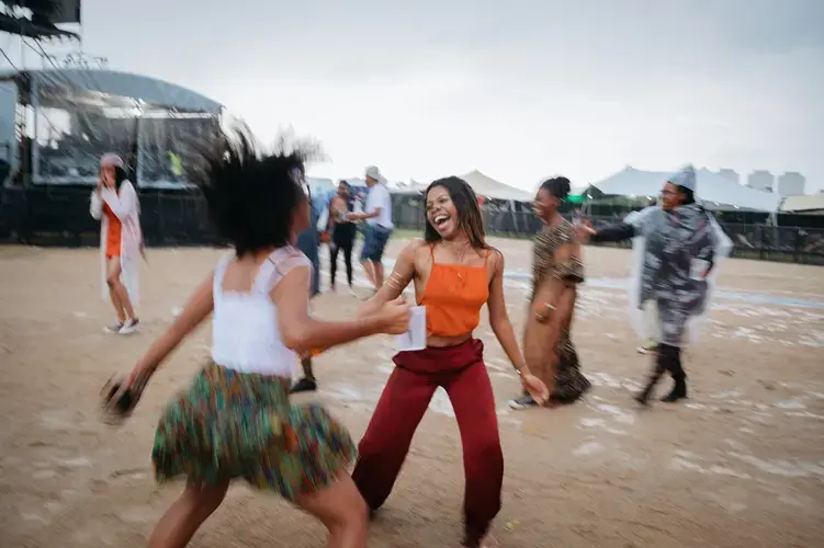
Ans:
[[[403,243],[393,240],[387,256]],[[529,242],[493,243],[506,253],[509,310],[520,331]],[[101,329],[112,315],[100,299],[97,250],[0,248],[1,547],[145,545],[178,494],[151,477],[155,424],[202,364],[208,327],[167,362],[122,427],[99,421],[98,393],[169,326],[221,253],[149,250],[140,272],[143,330],[116,336]],[[582,289],[574,340],[595,388],[573,407],[509,411],[517,379],[486,319],[478,329],[506,458],[499,544],[824,546],[824,269],[723,263],[709,329],[686,355],[689,402],[643,411],[631,396],[650,358],[635,353],[620,284],[605,283],[625,277],[629,262],[628,251],[586,250],[591,282]],[[357,306],[343,292],[327,292],[315,311],[340,318]],[[302,399],[325,402],[359,438],[393,349],[391,338],[373,338],[323,354],[320,391]],[[666,388],[668,381],[659,391]],[[369,546],[459,546],[462,493],[458,429],[438,392]],[[238,483],[191,546],[321,547],[325,530]]]

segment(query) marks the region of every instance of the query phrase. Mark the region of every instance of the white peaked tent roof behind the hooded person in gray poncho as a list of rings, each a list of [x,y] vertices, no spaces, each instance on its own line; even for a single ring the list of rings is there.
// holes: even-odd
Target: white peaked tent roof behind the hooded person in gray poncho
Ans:
[[[592,183],[607,196],[658,196],[667,179],[676,170],[641,171],[627,167],[603,181]],[[696,197],[704,203],[734,206],[757,212],[778,212],[781,197],[730,181],[707,169],[696,170]]]

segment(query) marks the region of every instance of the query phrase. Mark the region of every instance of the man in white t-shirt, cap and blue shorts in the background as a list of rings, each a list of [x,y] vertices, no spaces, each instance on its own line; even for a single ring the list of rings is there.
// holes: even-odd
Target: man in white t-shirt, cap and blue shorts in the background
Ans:
[[[377,290],[383,285],[383,251],[395,225],[392,224],[392,196],[381,171],[374,165],[366,168],[366,186],[369,196],[363,213],[350,213],[347,217],[349,220],[366,221],[361,264]]]

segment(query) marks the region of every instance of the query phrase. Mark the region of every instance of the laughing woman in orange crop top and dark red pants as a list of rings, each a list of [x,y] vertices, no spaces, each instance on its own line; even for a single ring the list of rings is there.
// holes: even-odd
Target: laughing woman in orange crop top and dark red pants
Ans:
[[[504,301],[504,255],[484,239],[481,209],[472,187],[451,176],[426,192],[424,240],[410,242],[377,294],[362,308],[371,315],[415,282],[427,309],[427,347],[395,355],[395,369],[359,446],[352,479],[374,512],[390,495],[415,430],[434,391],[452,401],[463,444],[465,546],[477,548],[500,510],[504,456],[498,438],[484,344],[473,338],[487,305],[489,323],[507,356],[535,399],[546,387],[529,373]]]

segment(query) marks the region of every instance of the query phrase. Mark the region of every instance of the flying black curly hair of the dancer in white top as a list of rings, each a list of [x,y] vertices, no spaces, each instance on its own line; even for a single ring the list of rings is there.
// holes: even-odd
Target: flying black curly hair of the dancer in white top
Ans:
[[[317,148],[286,145],[281,138],[274,152],[263,153],[238,124],[199,155],[191,179],[238,256],[291,242],[294,213],[308,198],[305,161]]]

